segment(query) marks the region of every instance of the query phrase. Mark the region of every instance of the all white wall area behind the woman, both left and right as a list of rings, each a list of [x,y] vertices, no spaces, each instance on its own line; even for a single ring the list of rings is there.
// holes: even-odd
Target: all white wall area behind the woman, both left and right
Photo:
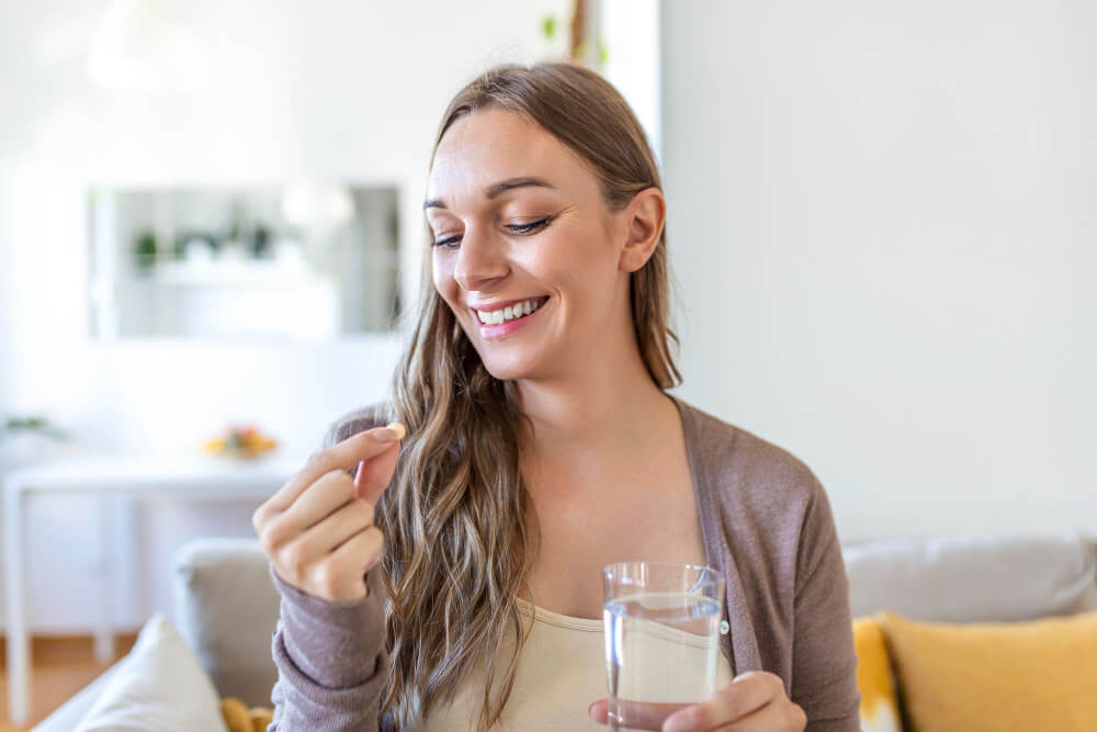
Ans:
[[[541,20],[569,4],[202,0],[211,87],[120,97],[83,72],[105,2],[4,3],[0,412],[161,454],[244,417],[306,453],[382,394],[392,339],[90,344],[86,187],[395,182],[411,251],[449,95],[540,57]],[[681,393],[803,458],[844,540],[1097,528],[1095,12],[661,3]],[[179,541],[247,536],[249,514],[146,513],[145,590],[120,626],[169,606]],[[32,574],[54,579],[34,588],[36,629],[89,627],[72,598],[97,581],[57,545],[93,543],[92,516],[36,509]]]

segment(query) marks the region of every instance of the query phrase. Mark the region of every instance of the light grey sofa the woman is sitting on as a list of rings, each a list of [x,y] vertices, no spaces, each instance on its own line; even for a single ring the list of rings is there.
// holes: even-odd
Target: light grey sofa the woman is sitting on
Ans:
[[[924,622],[1017,623],[1097,610],[1097,541],[1082,531],[880,540],[842,553],[855,619],[886,610]],[[279,598],[258,541],[191,541],[177,554],[173,586],[176,627],[217,695],[270,706]],[[35,729],[76,729],[123,663]]]

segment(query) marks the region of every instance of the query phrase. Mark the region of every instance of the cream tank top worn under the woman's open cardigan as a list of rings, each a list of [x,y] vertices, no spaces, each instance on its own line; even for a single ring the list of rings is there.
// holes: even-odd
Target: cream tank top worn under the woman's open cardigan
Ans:
[[[518,658],[514,686],[502,718],[491,729],[499,732],[606,732],[604,725],[587,716],[590,702],[607,696],[602,621],[558,615],[521,598],[518,607],[527,618],[533,616],[533,627]],[[675,631],[668,629],[668,632]],[[509,655],[514,641],[509,633],[506,639],[507,645],[500,653]],[[704,650],[697,646],[697,652],[698,662],[704,663]],[[732,667],[722,653],[716,656],[716,688],[722,688],[732,680]],[[653,688],[666,689],[674,697],[678,683],[674,671],[651,671]],[[453,702],[439,705],[419,729],[427,732],[476,729],[484,684],[484,671],[478,669],[461,685]]]

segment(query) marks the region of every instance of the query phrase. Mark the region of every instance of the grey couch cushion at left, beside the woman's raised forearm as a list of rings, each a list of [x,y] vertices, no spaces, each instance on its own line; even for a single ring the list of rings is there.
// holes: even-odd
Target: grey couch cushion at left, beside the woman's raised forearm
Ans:
[[[174,559],[179,633],[220,696],[271,706],[279,595],[258,539],[195,539]]]

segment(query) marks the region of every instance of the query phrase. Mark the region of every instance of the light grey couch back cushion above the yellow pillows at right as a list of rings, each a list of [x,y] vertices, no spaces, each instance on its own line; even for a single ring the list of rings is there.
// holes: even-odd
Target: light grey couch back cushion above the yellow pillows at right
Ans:
[[[991,622],[1097,609],[1097,549],[1082,532],[882,540],[842,554],[855,618]]]

